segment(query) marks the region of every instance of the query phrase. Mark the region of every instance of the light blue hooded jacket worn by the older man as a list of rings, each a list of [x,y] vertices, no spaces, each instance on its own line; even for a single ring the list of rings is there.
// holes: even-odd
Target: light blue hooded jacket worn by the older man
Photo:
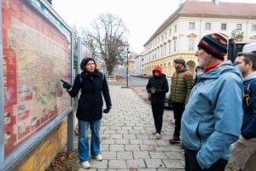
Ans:
[[[241,135],[242,77],[237,66],[224,61],[204,73],[191,90],[182,117],[183,145],[198,151],[201,168],[231,155],[231,144]]]

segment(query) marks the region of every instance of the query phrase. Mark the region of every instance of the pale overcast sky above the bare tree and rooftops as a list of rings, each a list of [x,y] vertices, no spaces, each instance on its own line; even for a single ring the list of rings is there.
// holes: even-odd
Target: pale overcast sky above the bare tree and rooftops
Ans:
[[[67,25],[77,28],[90,26],[99,14],[118,15],[130,31],[131,51],[140,54],[143,44],[182,2],[184,0],[52,0],[52,5]],[[256,0],[220,2],[256,3]]]

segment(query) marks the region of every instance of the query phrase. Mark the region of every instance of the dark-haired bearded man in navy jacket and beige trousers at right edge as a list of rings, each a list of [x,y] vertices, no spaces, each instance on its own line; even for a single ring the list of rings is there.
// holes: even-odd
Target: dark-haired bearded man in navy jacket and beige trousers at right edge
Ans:
[[[238,53],[235,63],[243,77],[243,120],[241,136],[232,145],[232,155],[225,171],[243,169],[247,160],[256,152],[256,54]]]

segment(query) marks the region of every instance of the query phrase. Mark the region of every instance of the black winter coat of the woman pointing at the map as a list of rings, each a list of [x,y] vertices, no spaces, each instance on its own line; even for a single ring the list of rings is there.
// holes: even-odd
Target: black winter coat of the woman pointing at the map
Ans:
[[[95,121],[102,118],[102,94],[107,106],[112,106],[106,77],[101,72],[88,74],[83,71],[75,78],[72,90],[68,92],[71,97],[79,94],[79,106],[76,116],[83,121]]]

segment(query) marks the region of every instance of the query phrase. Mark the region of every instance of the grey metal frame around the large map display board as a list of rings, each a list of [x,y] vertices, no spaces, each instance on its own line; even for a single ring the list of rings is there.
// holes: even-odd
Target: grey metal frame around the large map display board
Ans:
[[[70,49],[71,49],[71,76],[73,76],[73,32],[69,26],[65,23],[61,17],[55,13],[55,10],[45,0],[20,0],[24,3],[32,5],[39,14],[44,15],[53,25],[60,27],[61,31],[65,35],[69,35],[71,38]],[[44,8],[42,8],[44,7]],[[2,20],[2,0],[0,0],[0,118],[4,117],[4,84],[3,84],[3,20]],[[73,77],[71,77],[73,82]],[[38,130],[36,134],[33,134],[32,138],[26,140],[25,143],[20,145],[17,149],[12,151],[8,157],[4,157],[4,120],[0,119],[0,170],[8,170],[20,157],[24,156],[27,151],[31,150],[32,147],[37,145],[38,142],[44,140],[45,136],[49,134],[56,126],[58,126],[67,117],[67,147],[69,151],[73,151],[73,100],[71,99],[70,107],[50,121],[44,128]]]

